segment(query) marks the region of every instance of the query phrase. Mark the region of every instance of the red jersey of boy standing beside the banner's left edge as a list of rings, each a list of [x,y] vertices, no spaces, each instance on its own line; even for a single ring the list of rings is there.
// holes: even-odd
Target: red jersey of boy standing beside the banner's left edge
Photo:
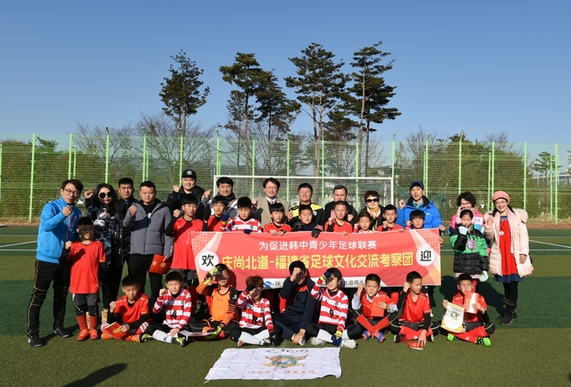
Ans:
[[[196,270],[197,265],[194,261],[194,253],[192,252],[192,236],[191,233],[202,231],[205,222],[198,219],[186,220],[178,218],[172,226],[172,235],[174,236],[174,248],[172,251],[172,268],[180,268],[183,270]]]

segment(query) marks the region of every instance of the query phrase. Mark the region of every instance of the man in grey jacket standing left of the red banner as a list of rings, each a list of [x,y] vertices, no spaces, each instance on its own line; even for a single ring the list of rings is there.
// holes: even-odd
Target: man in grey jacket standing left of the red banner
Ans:
[[[171,222],[171,210],[155,198],[156,187],[151,181],[141,183],[141,200],[132,204],[123,219],[123,226],[130,231],[129,273],[139,277],[141,292],[145,292],[148,269],[155,254],[172,257],[172,237],[164,235]],[[153,308],[163,287],[163,276],[148,273],[151,283],[149,307]]]

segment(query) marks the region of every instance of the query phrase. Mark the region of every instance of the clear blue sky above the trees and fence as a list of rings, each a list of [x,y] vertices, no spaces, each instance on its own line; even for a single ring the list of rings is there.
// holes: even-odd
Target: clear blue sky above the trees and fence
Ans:
[[[571,145],[571,2],[122,1],[4,2],[0,133],[73,133],[78,122],[120,128],[155,114],[170,55],[204,69],[211,95],[190,119],[226,120],[232,86],[218,70],[237,52],[295,75],[289,57],[311,42],[351,62],[382,40],[397,86],[377,139],[424,130],[468,138]],[[349,67],[346,68],[349,70]],[[309,131],[300,116],[297,130]]]

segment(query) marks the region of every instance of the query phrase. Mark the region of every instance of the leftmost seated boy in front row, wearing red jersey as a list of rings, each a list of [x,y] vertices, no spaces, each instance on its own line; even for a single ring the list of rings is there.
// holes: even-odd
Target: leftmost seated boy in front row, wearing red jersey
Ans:
[[[116,322],[121,325],[120,332],[128,333],[122,340],[140,342],[150,320],[148,297],[147,294],[140,292],[140,289],[138,276],[129,275],[123,278],[122,291],[125,295],[109,303],[109,315],[107,322],[101,325],[102,330]],[[104,332],[101,333],[101,339],[111,340],[114,337]]]

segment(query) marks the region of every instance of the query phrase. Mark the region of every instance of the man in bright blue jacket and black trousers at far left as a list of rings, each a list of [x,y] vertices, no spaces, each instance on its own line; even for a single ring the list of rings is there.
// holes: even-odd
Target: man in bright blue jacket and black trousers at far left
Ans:
[[[34,287],[28,307],[28,342],[32,347],[44,345],[39,338],[39,312],[46,300],[46,293],[54,282],[54,334],[70,337],[63,329],[67,289],[70,286],[70,265],[59,263],[66,241],[78,238],[78,220],[81,210],[75,207],[83,185],[80,180],[65,180],[60,191],[61,197],[44,206],[39,219],[38,249]]]

